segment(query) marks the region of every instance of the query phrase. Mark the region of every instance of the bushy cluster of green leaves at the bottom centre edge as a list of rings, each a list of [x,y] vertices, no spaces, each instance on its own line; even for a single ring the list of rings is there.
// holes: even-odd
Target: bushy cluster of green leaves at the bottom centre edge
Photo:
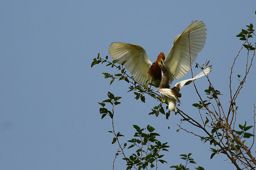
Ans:
[[[151,168],[155,167],[154,162],[161,162],[162,164],[167,163],[165,160],[160,159],[164,155],[159,155],[161,151],[168,151],[166,148],[170,147],[166,143],[161,143],[159,140],[156,139],[156,136],[160,136],[158,133],[153,132],[155,128],[148,125],[147,130],[149,133],[144,133],[143,131],[146,128],[140,129],[139,126],[133,125],[133,128],[136,129],[136,133],[131,140],[127,142],[132,143],[128,149],[137,147],[135,153],[133,153],[129,158],[123,158],[128,161],[127,169],[134,167],[135,169],[140,170],[141,168],[145,169],[148,165]],[[124,144],[126,146],[126,143]],[[144,149],[144,147],[146,148]]]

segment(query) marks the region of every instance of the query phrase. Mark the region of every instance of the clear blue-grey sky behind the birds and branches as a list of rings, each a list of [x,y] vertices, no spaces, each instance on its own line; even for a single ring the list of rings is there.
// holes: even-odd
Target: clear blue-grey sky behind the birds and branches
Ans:
[[[256,27],[255,9],[255,0],[1,1],[0,169],[112,169],[118,146],[111,145],[111,120],[101,120],[97,103],[107,99],[108,91],[123,96],[114,117],[116,131],[125,135],[122,143],[133,137],[133,124],[149,124],[161,134],[160,141],[169,142],[170,152],[164,157],[168,164],[160,169],[184,163],[179,155],[188,153],[197,162],[191,169],[235,169],[229,160],[224,162],[224,155],[210,160],[208,143],[184,131],[177,133],[172,122],[179,123],[179,115],[172,113],[169,121],[164,115],[148,115],[156,100],[146,96],[145,104],[133,99],[124,81],[109,86],[101,73],[116,70],[104,65],[91,68],[91,63],[99,52],[101,57],[108,55],[114,41],[139,44],[154,62],[161,51],[169,52],[174,38],[192,20],[203,20],[207,39],[196,62],[211,60],[209,78],[224,94],[220,100],[227,111],[229,68],[242,44],[235,36],[245,25]],[[246,53],[239,57],[234,87],[239,83],[236,75],[245,72]],[[254,64],[236,102],[237,126],[244,121],[253,124],[255,72]],[[189,72],[182,79],[190,76]],[[196,84],[204,94],[206,79]],[[191,106],[199,100],[193,85],[183,87],[182,95],[179,108],[198,117]],[[184,127],[202,134],[189,124]],[[116,170],[126,167],[121,158],[116,159]]]

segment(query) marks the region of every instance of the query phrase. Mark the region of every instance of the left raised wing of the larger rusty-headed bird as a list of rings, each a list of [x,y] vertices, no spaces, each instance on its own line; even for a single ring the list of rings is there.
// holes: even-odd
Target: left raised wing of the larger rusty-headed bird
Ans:
[[[145,84],[148,79],[148,69],[152,65],[144,48],[136,44],[113,42],[109,46],[109,54],[117,63],[124,63],[125,68],[132,74],[135,80]]]

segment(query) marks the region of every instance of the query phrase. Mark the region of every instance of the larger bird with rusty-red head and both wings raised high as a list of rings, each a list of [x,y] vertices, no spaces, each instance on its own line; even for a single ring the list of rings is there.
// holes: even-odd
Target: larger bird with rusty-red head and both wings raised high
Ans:
[[[206,40],[206,28],[204,27],[203,21],[192,22],[183,33],[176,36],[167,56],[165,57],[164,53],[161,52],[155,63],[151,63],[146,51],[136,44],[113,42],[109,46],[108,52],[113,60],[119,60],[117,63],[121,64],[126,61],[124,63],[125,68],[137,82],[145,84],[149,79],[149,82],[154,82],[156,87],[159,87],[162,78],[161,69],[158,66],[162,58],[169,72],[169,83],[172,84],[173,79],[182,78],[187,74],[190,69],[190,62],[193,64],[198,52],[204,48]]]

